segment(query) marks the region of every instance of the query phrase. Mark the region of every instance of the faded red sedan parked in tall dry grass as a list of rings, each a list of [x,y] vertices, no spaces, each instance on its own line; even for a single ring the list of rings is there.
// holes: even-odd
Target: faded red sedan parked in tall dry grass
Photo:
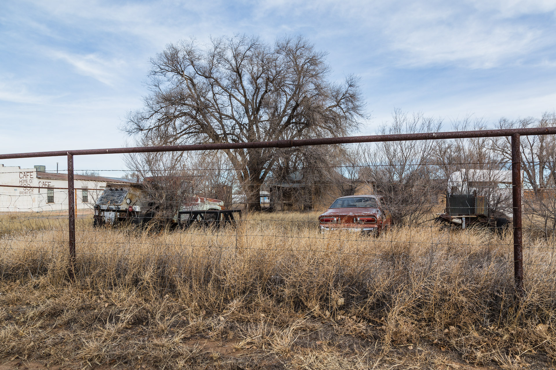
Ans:
[[[319,216],[320,230],[381,232],[390,229],[392,216],[376,195],[342,196]]]

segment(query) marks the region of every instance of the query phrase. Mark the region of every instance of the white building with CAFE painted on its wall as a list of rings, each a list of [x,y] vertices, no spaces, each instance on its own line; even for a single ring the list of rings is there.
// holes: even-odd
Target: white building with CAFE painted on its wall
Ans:
[[[77,209],[92,209],[107,182],[131,181],[87,175],[73,177]],[[67,210],[67,187],[67,174],[48,173],[44,166],[20,168],[0,164],[0,212]]]

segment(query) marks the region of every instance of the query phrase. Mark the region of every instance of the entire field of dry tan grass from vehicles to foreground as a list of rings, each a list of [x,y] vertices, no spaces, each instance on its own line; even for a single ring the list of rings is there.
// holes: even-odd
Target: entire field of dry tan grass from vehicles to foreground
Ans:
[[[518,302],[510,233],[320,234],[316,215],[157,234],[78,220],[75,282],[63,222],[7,230],[0,356],[289,369],[517,369],[556,356],[553,240],[526,238]]]

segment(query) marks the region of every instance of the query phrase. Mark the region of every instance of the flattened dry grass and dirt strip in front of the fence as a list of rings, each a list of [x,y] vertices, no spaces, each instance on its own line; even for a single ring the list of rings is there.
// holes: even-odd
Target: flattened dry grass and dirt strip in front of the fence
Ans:
[[[384,318],[381,322],[341,313],[324,320],[311,312],[287,317],[278,312],[209,315],[183,307],[180,311],[166,302],[160,305],[163,311],[151,307],[135,310],[131,317],[124,314],[130,310],[111,300],[83,302],[77,310],[63,310],[61,300],[62,306],[35,315],[37,307],[30,301],[6,307],[13,301],[7,302],[5,290],[0,297],[7,308],[0,370],[556,368],[551,358],[534,349],[483,365],[469,363],[453,346],[458,325],[450,322],[441,336],[393,339]],[[500,334],[505,335],[502,330]]]

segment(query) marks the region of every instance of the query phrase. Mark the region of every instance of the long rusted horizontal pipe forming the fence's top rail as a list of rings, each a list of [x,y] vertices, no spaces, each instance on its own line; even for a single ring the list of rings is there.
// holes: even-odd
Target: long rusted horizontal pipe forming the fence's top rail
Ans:
[[[495,136],[512,136],[514,134],[519,134],[519,135],[556,134],[556,127],[520,128],[520,129],[504,129],[504,130],[452,131],[452,132],[440,132],[440,133],[395,134],[395,135],[347,136],[347,137],[340,137],[340,138],[255,141],[250,143],[212,143],[212,144],[193,144],[193,145],[138,146],[135,148],[39,151],[39,152],[31,152],[31,153],[0,154],[0,159],[48,157],[48,156],[61,156],[67,154],[90,155],[90,154],[122,154],[122,153],[155,153],[159,151],[291,148],[292,146],[374,143],[378,141],[492,138]]]

